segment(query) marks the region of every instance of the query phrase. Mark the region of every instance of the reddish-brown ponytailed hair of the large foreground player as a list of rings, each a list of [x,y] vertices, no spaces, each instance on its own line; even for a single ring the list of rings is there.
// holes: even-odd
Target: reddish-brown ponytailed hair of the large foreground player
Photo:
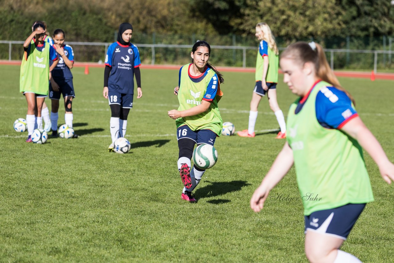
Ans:
[[[328,82],[338,90],[344,91],[353,104],[356,104],[353,96],[350,95],[347,90],[342,88],[338,78],[336,78],[334,74],[334,71],[331,70],[321,45],[314,42],[297,42],[288,46],[286,50],[282,52],[281,58],[296,60],[301,65],[304,65],[307,62],[312,62],[315,65],[316,76],[318,78]]]

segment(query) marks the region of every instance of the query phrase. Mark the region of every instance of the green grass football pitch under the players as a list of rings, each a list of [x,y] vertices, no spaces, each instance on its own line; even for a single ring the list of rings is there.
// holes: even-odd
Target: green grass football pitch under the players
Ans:
[[[103,69],[74,68],[74,129],[78,139],[24,142],[13,130],[25,118],[19,66],[0,66],[0,261],[1,262],[306,262],[303,207],[294,168],[260,213],[250,197],[284,140],[267,101],[261,103],[255,138],[222,136],[219,159],[195,190],[197,203],[180,199],[173,87],[177,70],[141,69],[143,97],[128,118],[130,153],[108,153],[108,101],[102,97]],[[219,103],[223,121],[246,129],[253,73],[224,72]],[[282,75],[280,75],[282,78]],[[394,82],[340,78],[357,110],[394,160]],[[295,96],[279,82],[283,112]],[[50,100],[46,102],[50,104]],[[59,111],[62,112],[62,111]],[[59,125],[64,115],[59,114]],[[392,262],[394,189],[365,155],[375,201],[366,206],[342,246],[363,262]],[[391,251],[391,252],[390,252]]]

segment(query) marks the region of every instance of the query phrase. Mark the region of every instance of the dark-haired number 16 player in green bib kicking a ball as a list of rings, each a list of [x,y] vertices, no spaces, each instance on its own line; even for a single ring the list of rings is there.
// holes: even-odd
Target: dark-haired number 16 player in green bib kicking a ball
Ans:
[[[196,201],[191,191],[205,172],[196,166],[190,170],[194,145],[213,146],[223,128],[217,103],[223,95],[220,83],[224,80],[208,63],[210,53],[211,47],[205,41],[193,45],[192,61],[180,68],[178,87],[174,91],[178,95],[179,108],[168,112],[177,125],[178,170],[185,186],[181,198],[190,202]]]

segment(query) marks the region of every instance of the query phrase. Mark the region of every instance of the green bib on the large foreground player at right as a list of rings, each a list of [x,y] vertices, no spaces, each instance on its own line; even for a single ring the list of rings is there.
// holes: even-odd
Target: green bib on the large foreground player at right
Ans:
[[[286,122],[304,215],[347,203],[374,201],[359,143],[340,130],[322,127],[316,119],[316,95],[327,86],[332,85],[323,81],[316,84],[295,114],[297,99],[290,106]]]

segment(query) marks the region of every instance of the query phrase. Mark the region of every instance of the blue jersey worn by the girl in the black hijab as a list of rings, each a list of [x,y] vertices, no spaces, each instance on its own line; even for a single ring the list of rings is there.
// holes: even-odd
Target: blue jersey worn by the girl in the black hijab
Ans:
[[[107,50],[105,65],[112,67],[108,91],[134,94],[134,68],[141,65],[137,46],[112,43]]]

